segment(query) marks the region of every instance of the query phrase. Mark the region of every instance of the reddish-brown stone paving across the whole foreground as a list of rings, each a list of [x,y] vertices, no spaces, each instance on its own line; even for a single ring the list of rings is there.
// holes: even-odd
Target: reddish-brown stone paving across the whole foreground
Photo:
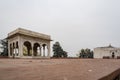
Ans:
[[[0,80],[98,80],[119,59],[0,59]]]

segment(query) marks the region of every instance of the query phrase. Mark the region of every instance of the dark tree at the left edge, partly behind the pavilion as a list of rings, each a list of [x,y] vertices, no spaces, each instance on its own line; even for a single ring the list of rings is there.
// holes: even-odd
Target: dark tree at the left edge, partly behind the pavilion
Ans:
[[[8,41],[7,39],[0,40],[0,44],[2,45],[1,48],[3,48],[3,52],[1,53],[1,56],[8,56]]]

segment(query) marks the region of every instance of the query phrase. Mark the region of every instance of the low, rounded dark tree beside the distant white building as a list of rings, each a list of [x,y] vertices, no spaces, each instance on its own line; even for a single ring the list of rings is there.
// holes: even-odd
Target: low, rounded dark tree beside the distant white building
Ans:
[[[86,48],[86,49],[81,49],[80,51],[80,58],[93,58],[93,51],[91,51],[90,49]]]

